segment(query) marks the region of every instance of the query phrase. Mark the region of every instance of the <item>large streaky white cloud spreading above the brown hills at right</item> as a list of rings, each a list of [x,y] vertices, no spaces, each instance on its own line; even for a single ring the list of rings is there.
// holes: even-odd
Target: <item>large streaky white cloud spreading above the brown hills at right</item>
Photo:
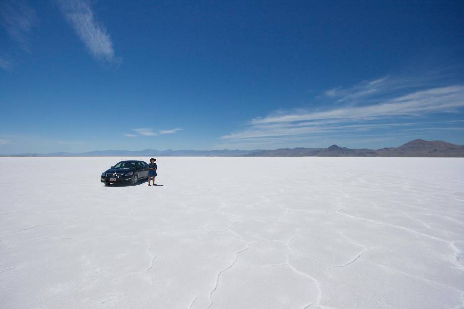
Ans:
[[[382,93],[388,95],[381,95]],[[391,93],[397,95],[392,96]],[[464,108],[464,86],[425,88],[413,79],[409,83],[406,79],[399,82],[392,78],[365,81],[348,89],[331,89],[324,96],[332,99],[332,108],[276,111],[268,116],[252,119],[242,130],[224,135],[220,139],[228,144],[245,141],[282,144],[292,138],[301,140],[347,132],[356,135],[372,130],[399,133],[406,128],[444,128],[448,127],[449,122],[432,124],[417,121],[417,118],[434,113],[454,113]]]

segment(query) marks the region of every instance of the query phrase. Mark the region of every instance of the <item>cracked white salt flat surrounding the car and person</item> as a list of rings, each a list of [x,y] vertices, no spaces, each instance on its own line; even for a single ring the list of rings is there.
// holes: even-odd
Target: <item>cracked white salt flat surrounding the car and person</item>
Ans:
[[[0,158],[1,308],[464,307],[464,159],[121,159]]]

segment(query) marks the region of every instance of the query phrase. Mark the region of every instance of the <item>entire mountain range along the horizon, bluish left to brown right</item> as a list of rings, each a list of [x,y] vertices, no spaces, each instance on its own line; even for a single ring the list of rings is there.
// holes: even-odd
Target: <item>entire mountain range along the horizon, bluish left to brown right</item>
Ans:
[[[283,148],[276,150],[104,150],[84,153],[55,152],[47,155],[17,156],[191,156],[191,157],[464,157],[464,146],[441,140],[415,139],[397,148],[350,149],[332,145],[328,148]]]

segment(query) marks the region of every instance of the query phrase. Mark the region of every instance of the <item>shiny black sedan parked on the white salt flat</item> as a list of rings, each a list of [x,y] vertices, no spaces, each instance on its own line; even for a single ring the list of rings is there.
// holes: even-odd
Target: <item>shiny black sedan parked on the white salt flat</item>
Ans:
[[[121,161],[101,173],[101,182],[106,186],[110,183],[136,184],[142,178],[148,178],[148,164],[144,161]]]

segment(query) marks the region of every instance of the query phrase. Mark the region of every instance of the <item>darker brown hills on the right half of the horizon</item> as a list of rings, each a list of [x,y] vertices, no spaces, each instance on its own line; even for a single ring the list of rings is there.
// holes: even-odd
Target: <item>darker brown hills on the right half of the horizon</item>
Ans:
[[[350,149],[332,145],[328,148],[284,148],[259,150],[244,156],[253,157],[464,157],[464,146],[441,140],[426,141],[415,139],[397,148]]]

